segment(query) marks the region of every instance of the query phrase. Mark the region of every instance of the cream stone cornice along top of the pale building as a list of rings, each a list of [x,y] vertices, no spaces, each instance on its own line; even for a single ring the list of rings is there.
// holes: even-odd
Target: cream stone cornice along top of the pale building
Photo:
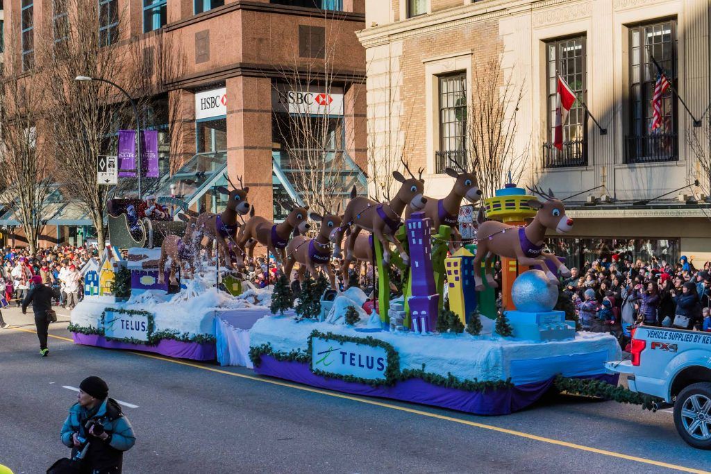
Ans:
[[[433,14],[407,18],[383,26],[374,26],[357,31],[358,39],[365,48],[422,36],[449,28],[459,28],[472,23],[482,23],[506,16],[533,13],[555,6],[587,4],[587,0],[486,0],[437,11]]]

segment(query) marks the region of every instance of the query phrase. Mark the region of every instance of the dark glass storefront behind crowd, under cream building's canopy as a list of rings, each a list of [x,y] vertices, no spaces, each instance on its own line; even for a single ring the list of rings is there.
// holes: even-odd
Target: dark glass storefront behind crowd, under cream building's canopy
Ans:
[[[597,259],[611,262],[613,254],[619,254],[620,259],[629,262],[651,261],[652,257],[667,262],[677,262],[680,257],[679,239],[546,239],[548,248],[558,257],[564,257],[568,268],[582,268],[586,262]]]

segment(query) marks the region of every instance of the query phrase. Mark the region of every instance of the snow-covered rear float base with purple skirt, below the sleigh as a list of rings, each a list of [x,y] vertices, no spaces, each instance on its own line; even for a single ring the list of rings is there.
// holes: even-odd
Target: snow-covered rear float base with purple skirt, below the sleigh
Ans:
[[[213,287],[199,286],[188,285],[188,289],[171,295],[144,291],[124,302],[117,302],[112,296],[87,297],[71,313],[69,329],[74,342],[183,359],[215,360],[219,358],[216,329],[222,316],[237,326],[244,319],[243,327],[249,328],[255,311],[260,315],[269,311],[269,291],[250,290],[234,297]],[[126,324],[127,329],[122,328],[119,335],[109,333],[109,321],[105,321],[108,316],[102,318],[105,312],[132,324]],[[246,359],[246,349],[243,358]]]

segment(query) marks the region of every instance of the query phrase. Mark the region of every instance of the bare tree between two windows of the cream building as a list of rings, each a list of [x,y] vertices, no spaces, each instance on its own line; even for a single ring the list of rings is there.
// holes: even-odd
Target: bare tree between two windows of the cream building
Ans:
[[[530,147],[515,149],[523,89],[506,75],[499,57],[474,68],[471,90],[476,94],[467,114],[466,146],[483,199],[491,198],[509,179],[518,182],[525,170]]]

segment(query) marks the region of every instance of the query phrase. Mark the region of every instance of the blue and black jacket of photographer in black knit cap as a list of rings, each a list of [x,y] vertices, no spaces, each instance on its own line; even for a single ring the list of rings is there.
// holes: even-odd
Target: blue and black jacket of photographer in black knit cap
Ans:
[[[100,421],[104,425],[104,429],[109,435],[106,441],[91,436],[89,430],[85,429],[86,423],[90,419]],[[79,433],[79,436],[89,442],[89,447],[82,452],[74,446],[72,441],[74,433]],[[69,409],[69,416],[62,426],[61,438],[65,446],[72,448],[72,458],[78,455],[84,459],[83,467],[102,471],[118,468],[117,472],[121,472],[123,452],[132,448],[136,443],[136,436],[130,421],[122,413],[119,404],[111,398],[105,399],[93,416],[80,404],[73,404]]]

